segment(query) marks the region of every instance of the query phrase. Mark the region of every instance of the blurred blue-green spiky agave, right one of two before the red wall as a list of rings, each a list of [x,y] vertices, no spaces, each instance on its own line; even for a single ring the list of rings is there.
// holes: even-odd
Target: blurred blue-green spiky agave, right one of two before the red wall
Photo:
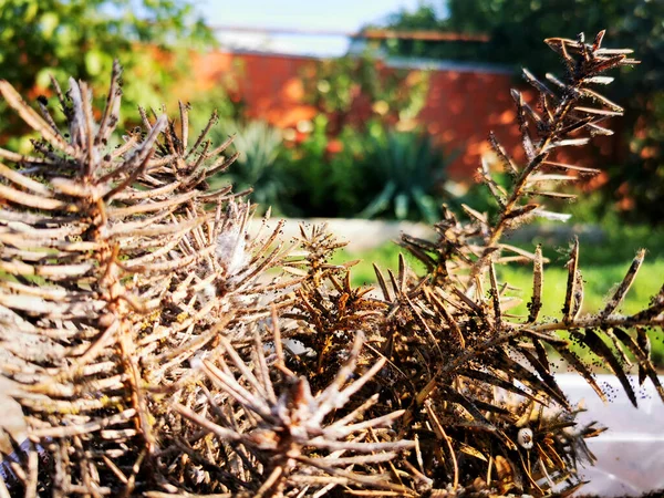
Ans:
[[[374,138],[366,157],[369,175],[380,193],[359,216],[373,218],[391,211],[396,219],[438,219],[435,189],[445,176],[445,167],[454,160],[445,157],[430,136],[416,132],[392,131]],[[417,212],[418,216],[415,216]]]

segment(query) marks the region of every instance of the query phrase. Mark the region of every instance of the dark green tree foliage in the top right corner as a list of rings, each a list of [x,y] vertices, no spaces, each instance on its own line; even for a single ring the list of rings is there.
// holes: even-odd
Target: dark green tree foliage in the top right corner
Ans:
[[[637,71],[623,68],[623,85],[606,89],[606,96],[626,110],[616,133],[604,193],[629,198],[636,211],[653,221],[664,219],[664,2],[647,0],[445,0],[423,4],[415,12],[390,18],[394,29],[434,29],[483,32],[489,43],[427,43],[392,41],[390,53],[463,59],[527,66],[543,74],[554,54],[530,50],[541,39],[583,29],[606,33],[615,46],[630,44],[639,53]],[[527,27],[527,28],[526,28]],[[653,181],[653,178],[655,180]]]

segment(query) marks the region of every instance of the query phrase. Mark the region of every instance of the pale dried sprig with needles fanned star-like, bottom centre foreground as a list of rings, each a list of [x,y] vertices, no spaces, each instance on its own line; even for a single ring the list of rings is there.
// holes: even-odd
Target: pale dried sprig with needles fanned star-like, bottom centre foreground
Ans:
[[[408,440],[366,442],[367,430],[390,425],[403,412],[356,422],[356,417],[366,409],[364,408],[353,411],[332,424],[323,423],[332,411],[343,409],[351,396],[383,367],[383,362],[378,362],[346,385],[349,375],[355,370],[362,341],[362,334],[359,333],[347,362],[332,383],[321,393],[312,395],[307,380],[284,375],[282,370],[270,370],[271,361],[266,359],[264,346],[259,339],[253,349],[256,361],[251,363],[246,363],[230,342],[222,340],[226,356],[232,365],[226,363],[224,356],[219,356],[220,367],[205,360],[197,367],[221,393],[226,393],[234,403],[241,406],[241,411],[236,413],[243,413],[239,417],[246,421],[241,425],[247,428],[238,430],[238,415],[234,423],[229,423],[226,417],[215,423],[186,406],[176,405],[175,409],[197,426],[215,434],[220,442],[239,444],[252,455],[258,481],[255,483],[252,478],[247,486],[255,489],[255,496],[284,496],[289,489],[299,489],[301,480],[297,477],[309,476],[312,471],[319,487],[334,484],[335,480],[331,477],[343,476],[346,486],[354,484],[407,494],[407,489],[392,484],[386,476],[371,477],[352,470],[354,466],[367,467],[388,461],[396,457],[394,452],[413,447],[413,443]],[[250,370],[249,364],[255,370]],[[272,381],[274,376],[280,387]],[[258,417],[256,422],[255,416]],[[347,440],[349,437],[352,439]],[[315,448],[314,454],[311,453],[312,448]],[[330,457],[319,454],[324,454],[325,450],[341,453]],[[341,456],[349,453],[356,456]]]

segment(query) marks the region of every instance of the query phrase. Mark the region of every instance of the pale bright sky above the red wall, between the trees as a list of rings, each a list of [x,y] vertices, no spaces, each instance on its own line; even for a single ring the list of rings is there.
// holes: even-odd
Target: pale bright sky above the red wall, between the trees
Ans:
[[[198,10],[210,27],[293,28],[354,32],[400,10],[413,11],[422,0],[200,0]],[[438,2],[442,3],[442,2]],[[302,55],[342,55],[343,37],[267,35],[217,32],[229,48]]]

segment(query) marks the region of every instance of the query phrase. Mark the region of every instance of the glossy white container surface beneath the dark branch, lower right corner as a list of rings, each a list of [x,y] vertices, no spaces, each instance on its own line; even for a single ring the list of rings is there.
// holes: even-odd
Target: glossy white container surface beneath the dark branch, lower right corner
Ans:
[[[652,383],[646,381],[639,387],[637,378],[631,377],[639,401],[639,408],[634,408],[614,375],[596,375],[611,400],[606,404],[581,375],[560,374],[556,378],[570,403],[583,402],[588,408],[579,415],[580,424],[596,421],[609,427],[587,440],[598,461],[581,469],[583,480],[590,483],[578,496],[640,496],[664,489],[664,402]],[[664,376],[660,381],[664,384]]]

